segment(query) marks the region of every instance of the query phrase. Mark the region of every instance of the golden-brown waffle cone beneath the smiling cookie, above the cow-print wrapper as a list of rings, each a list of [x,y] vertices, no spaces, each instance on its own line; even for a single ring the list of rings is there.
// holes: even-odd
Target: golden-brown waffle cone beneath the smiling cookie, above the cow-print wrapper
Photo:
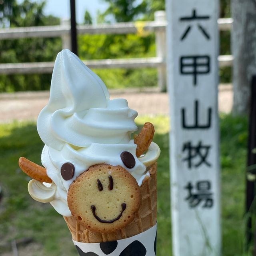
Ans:
[[[120,240],[140,234],[156,224],[156,163],[150,166],[150,176],[146,176],[140,186],[142,202],[134,220],[126,227],[113,233],[92,232],[76,221],[74,216],[64,217],[74,241],[100,243]]]

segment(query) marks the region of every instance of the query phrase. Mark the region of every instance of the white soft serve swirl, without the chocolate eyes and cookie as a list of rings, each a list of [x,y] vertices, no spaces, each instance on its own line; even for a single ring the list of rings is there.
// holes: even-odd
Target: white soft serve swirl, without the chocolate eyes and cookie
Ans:
[[[69,50],[56,58],[52,73],[50,99],[40,112],[38,133],[45,143],[42,164],[57,185],[51,202],[57,212],[71,216],[67,192],[75,178],[94,164],[124,166],[120,154],[130,152],[136,165],[127,169],[139,185],[146,167],[136,157],[136,144],[130,134],[137,130],[137,112],[128,108],[125,99],[109,99],[102,80]],[[71,162],[74,177],[64,180],[61,166]]]

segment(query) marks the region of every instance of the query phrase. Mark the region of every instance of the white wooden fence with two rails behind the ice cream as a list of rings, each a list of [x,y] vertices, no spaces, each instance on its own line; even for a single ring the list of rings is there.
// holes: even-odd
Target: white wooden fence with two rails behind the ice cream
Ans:
[[[232,18],[218,19],[219,30],[230,30],[232,22]],[[156,57],[154,58],[86,60],[84,63],[90,68],[158,68],[158,86],[160,90],[164,90],[166,86],[166,25],[164,11],[156,12],[155,20],[152,22],[80,25],[77,27],[78,34],[143,34],[144,32],[156,34]],[[0,29],[0,40],[39,37],[61,37],[62,48],[71,48],[69,21],[64,20],[59,26]],[[220,67],[232,66],[233,57],[231,55],[222,55],[219,56],[218,61]],[[51,73],[53,65],[54,62],[0,64],[0,74]]]

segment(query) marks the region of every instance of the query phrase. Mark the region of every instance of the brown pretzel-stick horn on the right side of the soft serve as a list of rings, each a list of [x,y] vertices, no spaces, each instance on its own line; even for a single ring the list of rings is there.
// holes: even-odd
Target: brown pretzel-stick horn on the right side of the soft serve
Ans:
[[[154,126],[150,122],[146,122],[140,133],[134,138],[134,143],[137,144],[136,156],[140,157],[150,146],[154,137]]]

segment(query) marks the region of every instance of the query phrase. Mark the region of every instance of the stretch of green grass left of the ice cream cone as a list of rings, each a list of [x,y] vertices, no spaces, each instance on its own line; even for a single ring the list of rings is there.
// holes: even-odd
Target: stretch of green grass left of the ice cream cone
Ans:
[[[0,254],[10,250],[10,241],[32,238],[44,252],[31,255],[77,255],[62,218],[50,204],[34,201],[27,191],[30,178],[18,167],[25,156],[40,163],[44,144],[34,123],[0,125]]]

